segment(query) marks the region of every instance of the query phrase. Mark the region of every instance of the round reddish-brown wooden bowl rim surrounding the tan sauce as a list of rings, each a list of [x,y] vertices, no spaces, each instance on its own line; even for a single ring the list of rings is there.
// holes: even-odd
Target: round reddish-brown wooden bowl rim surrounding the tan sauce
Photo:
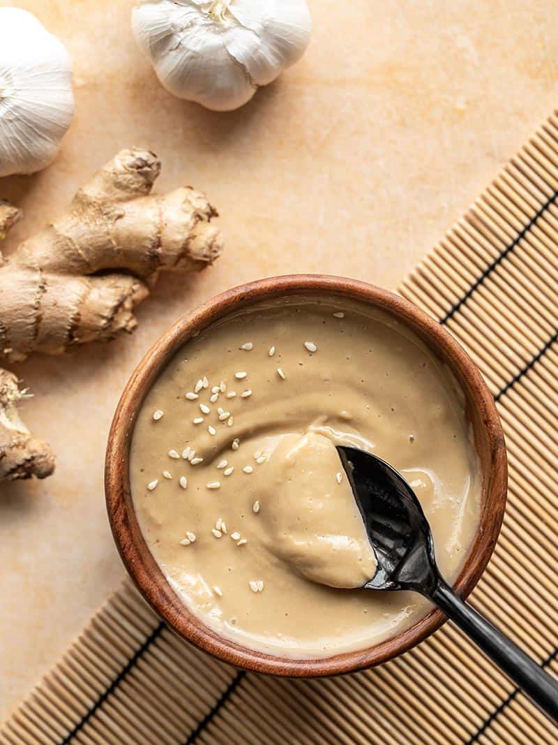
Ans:
[[[368,649],[324,659],[287,659],[260,653],[222,638],[196,618],[182,603],[155,563],[138,526],[129,484],[129,450],[135,419],[147,390],[176,350],[194,334],[240,308],[265,299],[287,295],[353,298],[396,316],[406,323],[449,365],[466,396],[466,413],[472,422],[481,460],[481,519],[472,548],[455,582],[466,597],[486,568],[504,517],[507,460],[500,420],[493,396],[475,364],[455,339],[426,313],[386,290],[321,275],[293,275],[262,279],[229,290],[183,316],[155,343],[138,364],[122,394],[109,434],[105,489],[109,521],[118,551],[138,589],[164,621],[187,641],[231,665],[274,675],[312,677],[350,673],[379,665],[414,647],[445,620],[433,609],[412,627]]]

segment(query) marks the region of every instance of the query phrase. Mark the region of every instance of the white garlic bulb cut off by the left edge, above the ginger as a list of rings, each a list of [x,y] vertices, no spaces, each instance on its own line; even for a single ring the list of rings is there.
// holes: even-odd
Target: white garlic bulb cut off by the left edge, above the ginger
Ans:
[[[53,161],[73,113],[62,42],[27,10],[0,7],[0,177]]]

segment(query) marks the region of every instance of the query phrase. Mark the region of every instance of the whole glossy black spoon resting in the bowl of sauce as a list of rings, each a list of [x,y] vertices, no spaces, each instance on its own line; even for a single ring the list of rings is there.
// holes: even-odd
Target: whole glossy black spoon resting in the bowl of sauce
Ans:
[[[428,597],[558,724],[558,681],[440,577],[429,523],[403,476],[365,451],[337,451],[378,562],[365,589],[414,590]]]

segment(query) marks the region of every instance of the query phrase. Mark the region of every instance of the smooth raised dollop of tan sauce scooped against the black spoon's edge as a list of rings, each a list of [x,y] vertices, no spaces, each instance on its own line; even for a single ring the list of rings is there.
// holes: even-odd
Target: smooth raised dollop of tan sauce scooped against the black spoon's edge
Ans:
[[[362,587],[374,576],[376,558],[327,437],[315,432],[278,437],[263,495],[263,544],[290,571],[337,588]]]

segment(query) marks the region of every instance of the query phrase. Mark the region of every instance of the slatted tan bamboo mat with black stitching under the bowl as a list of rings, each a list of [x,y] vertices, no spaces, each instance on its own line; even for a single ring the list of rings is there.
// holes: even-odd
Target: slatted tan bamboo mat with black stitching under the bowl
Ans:
[[[507,514],[472,603],[555,673],[557,199],[552,115],[400,287],[468,349],[506,431]],[[558,729],[450,624],[381,668],[272,679],[179,641],[126,580],[0,729],[0,742],[548,745],[558,744]]]

